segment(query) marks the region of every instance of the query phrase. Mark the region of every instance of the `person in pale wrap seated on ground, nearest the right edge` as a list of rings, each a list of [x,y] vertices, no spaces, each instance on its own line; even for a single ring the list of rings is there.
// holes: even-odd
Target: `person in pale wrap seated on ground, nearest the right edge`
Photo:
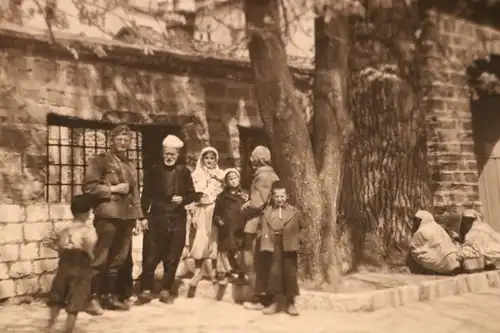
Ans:
[[[483,222],[475,210],[468,209],[462,213],[458,234],[465,271],[495,269],[500,260],[500,233]]]

